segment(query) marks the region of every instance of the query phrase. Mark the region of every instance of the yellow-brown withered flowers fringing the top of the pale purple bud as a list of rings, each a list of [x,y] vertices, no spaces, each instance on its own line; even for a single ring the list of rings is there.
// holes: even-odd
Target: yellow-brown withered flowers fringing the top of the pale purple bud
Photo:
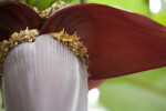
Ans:
[[[33,42],[39,33],[40,32],[37,29],[29,30],[27,28],[23,31],[21,30],[20,32],[14,32],[9,40],[3,40],[2,42],[0,42],[0,75],[2,75],[2,63],[8,52],[18,44],[24,42]],[[89,68],[87,49],[83,46],[82,42],[80,42],[80,38],[76,36],[76,32],[73,36],[70,36],[64,32],[63,29],[60,33],[48,34],[59,42],[68,46],[68,48],[86,64],[86,68]]]

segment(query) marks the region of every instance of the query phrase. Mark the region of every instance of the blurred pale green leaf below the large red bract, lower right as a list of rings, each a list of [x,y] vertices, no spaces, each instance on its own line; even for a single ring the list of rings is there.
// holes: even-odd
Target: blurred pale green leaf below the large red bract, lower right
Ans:
[[[166,68],[107,80],[100,102],[108,111],[166,111]]]

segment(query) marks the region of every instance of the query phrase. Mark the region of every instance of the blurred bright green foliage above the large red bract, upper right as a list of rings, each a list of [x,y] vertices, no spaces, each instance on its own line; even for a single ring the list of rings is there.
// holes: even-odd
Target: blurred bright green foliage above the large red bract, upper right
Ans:
[[[144,14],[154,19],[155,21],[166,26],[166,1],[162,0],[162,10],[159,13],[152,13],[149,11],[149,0],[87,0],[87,2],[102,3],[107,6],[115,6],[126,10]]]

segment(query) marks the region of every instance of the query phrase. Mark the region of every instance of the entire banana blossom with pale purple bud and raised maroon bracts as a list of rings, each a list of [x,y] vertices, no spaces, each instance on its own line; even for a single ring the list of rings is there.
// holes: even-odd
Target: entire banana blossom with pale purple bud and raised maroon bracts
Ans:
[[[144,16],[96,3],[49,10],[41,13],[22,2],[0,2],[7,111],[87,111],[89,89],[105,79],[166,65],[166,27]],[[27,38],[33,29],[39,31],[34,40],[11,41],[22,33]],[[71,44],[60,42],[63,29],[68,36],[76,32],[87,48],[89,65]],[[50,33],[59,33],[58,40]]]

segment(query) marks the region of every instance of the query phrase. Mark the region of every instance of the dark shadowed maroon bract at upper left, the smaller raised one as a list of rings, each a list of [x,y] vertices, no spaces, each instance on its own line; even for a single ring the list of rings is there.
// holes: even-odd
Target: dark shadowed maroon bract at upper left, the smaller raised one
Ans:
[[[41,22],[40,17],[32,8],[22,2],[0,2],[0,40],[8,39],[13,32],[30,29],[38,29]]]

